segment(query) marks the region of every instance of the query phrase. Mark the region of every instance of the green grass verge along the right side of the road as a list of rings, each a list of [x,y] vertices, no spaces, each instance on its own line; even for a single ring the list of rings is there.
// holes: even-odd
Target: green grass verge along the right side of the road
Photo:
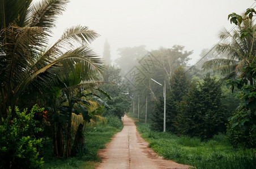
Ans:
[[[222,134],[209,141],[150,130],[150,124],[135,122],[137,130],[156,153],[165,159],[195,168],[256,168],[256,151],[233,148]]]

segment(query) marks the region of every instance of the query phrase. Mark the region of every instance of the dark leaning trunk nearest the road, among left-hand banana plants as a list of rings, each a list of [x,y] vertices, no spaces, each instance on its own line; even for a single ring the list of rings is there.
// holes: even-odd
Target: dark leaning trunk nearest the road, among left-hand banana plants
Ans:
[[[84,143],[84,136],[83,136],[83,124],[79,124],[78,126],[78,130],[76,131],[76,135],[75,135],[75,140],[74,140],[74,144],[72,147],[72,156],[75,156],[75,154],[78,153],[78,149],[82,148],[83,143]]]

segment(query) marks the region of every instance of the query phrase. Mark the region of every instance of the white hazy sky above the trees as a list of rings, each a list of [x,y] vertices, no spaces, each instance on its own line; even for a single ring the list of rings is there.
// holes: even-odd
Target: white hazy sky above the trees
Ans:
[[[233,25],[228,14],[241,14],[255,7],[254,0],[71,0],[58,19],[54,38],[65,28],[84,25],[101,36],[91,47],[103,54],[106,39],[112,60],[117,59],[117,48],[145,45],[146,49],[171,48],[182,45],[194,50],[192,63],[199,59],[203,48],[219,42],[221,28]]]

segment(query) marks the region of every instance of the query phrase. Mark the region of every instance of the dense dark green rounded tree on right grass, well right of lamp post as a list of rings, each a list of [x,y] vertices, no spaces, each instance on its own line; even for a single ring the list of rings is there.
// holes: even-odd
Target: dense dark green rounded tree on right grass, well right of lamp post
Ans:
[[[221,83],[210,74],[203,82],[192,82],[177,115],[181,134],[210,139],[217,132],[224,132],[228,115],[221,97]]]

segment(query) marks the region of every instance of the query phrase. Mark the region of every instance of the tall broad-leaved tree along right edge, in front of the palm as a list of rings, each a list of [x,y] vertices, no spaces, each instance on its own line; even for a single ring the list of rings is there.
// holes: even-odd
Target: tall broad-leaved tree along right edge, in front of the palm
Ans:
[[[236,13],[230,14],[231,23],[236,25],[246,25],[251,23],[256,11],[253,8],[248,8],[245,12],[246,17],[237,15]],[[255,28],[245,27],[238,34],[240,39],[252,39],[255,38]],[[249,48],[244,46],[246,51],[244,57],[248,60],[248,64],[244,65],[241,70],[240,77],[232,80],[228,80],[228,85],[231,85],[232,91],[235,87],[240,90],[240,98],[242,103],[238,107],[237,112],[229,118],[228,123],[228,135],[229,140],[233,145],[243,145],[248,148],[256,147],[256,87],[255,87],[255,48],[254,44],[251,44]]]

